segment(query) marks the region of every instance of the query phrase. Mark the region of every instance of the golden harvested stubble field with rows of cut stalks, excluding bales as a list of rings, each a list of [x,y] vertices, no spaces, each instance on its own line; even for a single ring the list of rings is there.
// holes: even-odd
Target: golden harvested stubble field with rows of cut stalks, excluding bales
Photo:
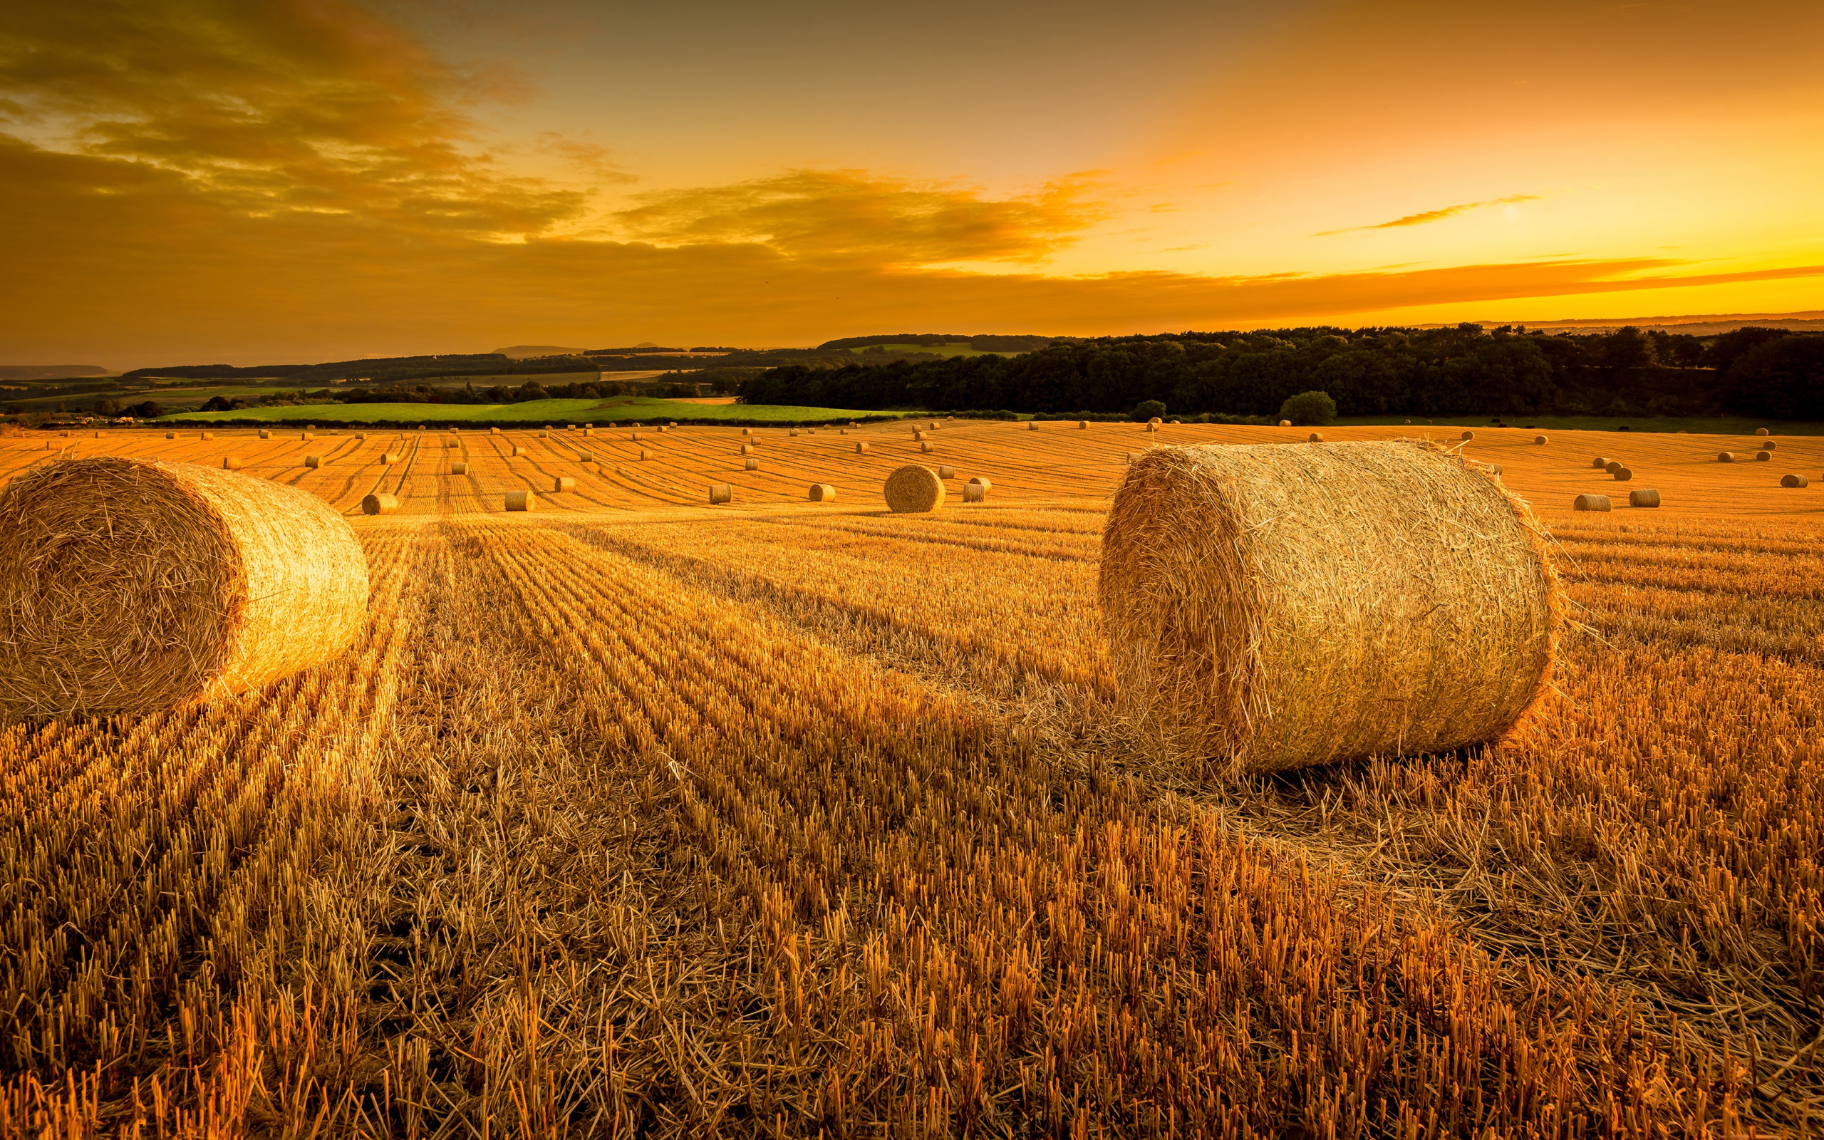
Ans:
[[[737,429],[626,434],[0,438],[0,480],[308,491],[370,593],[264,688],[0,726],[0,1133],[1824,1127],[1824,491],[1780,485],[1824,440],[1441,432],[1543,525],[1550,684],[1490,742],[1231,777],[1122,719],[1116,487],[1401,429],[959,420],[952,498],[897,514],[903,425],[755,429],[759,471]]]

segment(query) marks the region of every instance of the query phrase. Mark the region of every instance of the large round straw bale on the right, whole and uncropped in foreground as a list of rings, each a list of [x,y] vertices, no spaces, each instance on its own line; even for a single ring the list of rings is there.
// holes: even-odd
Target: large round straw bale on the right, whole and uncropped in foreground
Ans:
[[[1229,775],[1499,739],[1563,607],[1527,503],[1412,440],[1138,456],[1100,598],[1131,722]]]

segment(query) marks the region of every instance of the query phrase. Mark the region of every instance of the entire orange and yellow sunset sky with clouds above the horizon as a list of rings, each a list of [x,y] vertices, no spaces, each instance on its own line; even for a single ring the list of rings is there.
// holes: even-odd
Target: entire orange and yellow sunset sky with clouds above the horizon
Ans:
[[[0,363],[1824,308],[1815,0],[0,4]]]

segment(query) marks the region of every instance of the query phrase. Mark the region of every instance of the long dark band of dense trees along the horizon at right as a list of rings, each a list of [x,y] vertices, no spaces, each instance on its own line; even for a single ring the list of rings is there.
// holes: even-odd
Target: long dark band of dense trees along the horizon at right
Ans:
[[[1182,332],[1060,341],[1014,358],[781,367],[746,381],[741,396],[868,410],[1118,414],[1158,401],[1171,414],[1271,416],[1306,390],[1330,392],[1339,416],[1824,420],[1824,334],[1552,336],[1481,325]]]

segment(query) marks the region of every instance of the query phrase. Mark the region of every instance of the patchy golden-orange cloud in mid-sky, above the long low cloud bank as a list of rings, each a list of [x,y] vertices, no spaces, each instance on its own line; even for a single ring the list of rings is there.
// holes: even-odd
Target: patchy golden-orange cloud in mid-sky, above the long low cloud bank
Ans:
[[[1091,197],[1091,179],[1073,175],[1027,197],[987,199],[970,188],[863,170],[795,170],[644,195],[615,221],[662,244],[762,243],[817,263],[1040,261],[1107,217],[1107,206]]]

